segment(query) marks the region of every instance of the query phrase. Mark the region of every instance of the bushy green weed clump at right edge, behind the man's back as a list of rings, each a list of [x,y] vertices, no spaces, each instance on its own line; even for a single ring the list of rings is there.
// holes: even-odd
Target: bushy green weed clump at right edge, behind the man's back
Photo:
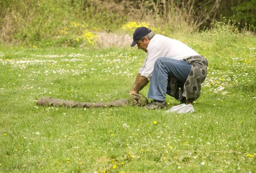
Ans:
[[[253,33],[246,30],[239,31],[239,28],[225,17],[221,21],[215,21],[212,28],[195,32],[194,36],[204,42],[203,45],[199,45],[203,53],[215,55],[215,58],[222,58],[223,55],[238,56],[240,52],[235,50],[246,46],[241,45],[243,41],[249,39],[255,42]],[[194,42],[197,41],[194,40]],[[234,48],[231,49],[231,47]]]

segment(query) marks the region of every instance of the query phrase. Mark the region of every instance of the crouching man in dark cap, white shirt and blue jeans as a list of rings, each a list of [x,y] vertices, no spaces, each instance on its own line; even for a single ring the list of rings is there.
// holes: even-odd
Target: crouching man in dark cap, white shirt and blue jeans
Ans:
[[[180,41],[154,34],[146,27],[133,34],[133,47],[147,52],[130,95],[139,93],[150,83],[148,98],[153,99],[146,108],[166,107],[166,93],[181,103],[192,103],[200,96],[201,83],[206,78],[208,61]]]

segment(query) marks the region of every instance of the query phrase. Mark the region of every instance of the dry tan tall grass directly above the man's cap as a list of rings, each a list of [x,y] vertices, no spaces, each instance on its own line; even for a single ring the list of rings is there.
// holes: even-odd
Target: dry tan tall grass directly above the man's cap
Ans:
[[[193,6],[173,0],[144,0],[127,2],[128,16],[135,21],[147,21],[167,33],[190,33],[197,28]]]

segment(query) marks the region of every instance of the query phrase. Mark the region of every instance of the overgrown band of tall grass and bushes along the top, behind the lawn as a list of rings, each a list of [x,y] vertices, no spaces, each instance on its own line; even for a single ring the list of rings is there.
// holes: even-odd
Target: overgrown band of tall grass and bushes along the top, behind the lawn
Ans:
[[[146,21],[170,36],[210,28],[221,20],[220,14],[239,30],[254,30],[255,8],[255,0],[1,0],[0,41],[41,47],[93,45],[92,34],[124,33],[120,28],[129,21]]]

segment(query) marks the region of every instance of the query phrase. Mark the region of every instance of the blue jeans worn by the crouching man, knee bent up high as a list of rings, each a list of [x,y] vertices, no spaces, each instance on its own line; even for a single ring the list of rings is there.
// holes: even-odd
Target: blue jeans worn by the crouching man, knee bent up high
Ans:
[[[183,60],[161,57],[154,65],[154,71],[150,82],[148,97],[154,100],[164,101],[166,93],[171,95],[171,78],[178,81],[178,87],[183,92],[183,86],[190,72],[191,65]],[[177,90],[174,98],[182,100],[184,97]],[[181,98],[179,98],[181,95]]]

